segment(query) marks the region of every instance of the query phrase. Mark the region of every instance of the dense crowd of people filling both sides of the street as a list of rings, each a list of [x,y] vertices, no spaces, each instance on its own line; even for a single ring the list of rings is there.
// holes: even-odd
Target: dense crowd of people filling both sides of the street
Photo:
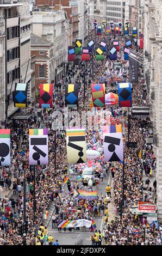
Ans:
[[[87,42],[94,39],[94,31],[89,32]],[[102,39],[108,40],[108,47],[113,42],[113,36],[107,39],[107,36],[101,35],[97,38],[97,43]],[[119,37],[120,45],[124,44],[124,38]],[[141,50],[135,46],[136,50]],[[35,107],[30,109],[30,118],[28,121],[14,121],[11,126],[11,166],[0,169],[0,244],[5,245],[22,245],[23,239],[20,230],[23,226],[23,182],[26,179],[26,216],[28,224],[28,233],[26,236],[27,245],[52,245],[54,243],[52,235],[48,232],[44,215],[48,213],[49,206],[53,205],[52,228],[58,228],[58,224],[63,220],[77,220],[85,218],[95,220],[101,216],[104,218],[104,229],[96,230],[93,225],[89,231],[92,234],[90,243],[92,245],[159,245],[161,244],[161,234],[158,228],[146,228],[146,234],[135,238],[128,235],[127,227],[135,230],[135,227],[142,229],[142,224],[146,223],[145,218],[133,215],[130,211],[132,205],[137,205],[138,200],[156,203],[156,182],[150,184],[149,176],[155,172],[156,159],[151,146],[146,145],[148,128],[151,126],[148,118],[132,118],[130,128],[130,141],[137,142],[135,149],[124,148],[124,205],[123,214],[121,212],[122,204],[122,164],[121,163],[104,163],[101,159],[96,159],[93,164],[97,167],[96,187],[103,178],[112,175],[112,185],[108,184],[105,189],[105,195],[98,192],[97,199],[84,200],[73,198],[74,189],[85,190],[82,182],[77,180],[79,172],[78,164],[73,166],[67,165],[66,157],[66,133],[65,130],[53,131],[53,111],[60,111],[64,117],[65,107],[65,84],[72,83],[76,80],[79,87],[79,113],[90,110],[91,84],[105,83],[105,92],[117,93],[117,82],[129,81],[128,62],[123,59],[123,54],[119,53],[117,61],[121,62],[120,70],[114,69],[114,61],[109,60],[108,55],[104,55],[103,62],[94,60],[92,74],[92,55],[90,62],[78,62],[73,68],[67,70],[67,77],[63,77],[54,87],[53,108],[44,109],[40,117],[36,113],[38,102]],[[145,80],[142,77],[142,69],[139,69],[141,77],[138,84],[133,85],[133,105],[146,105],[148,103]],[[87,84],[84,92],[84,77],[86,76]],[[92,80],[93,76],[93,80]],[[75,78],[75,79],[74,79]],[[85,99],[84,99],[85,93]],[[74,109],[72,109],[74,110]],[[104,108],[107,111],[106,108]],[[128,136],[128,109],[114,107],[115,117],[121,120],[126,129],[124,141]],[[70,120],[74,117],[72,113]],[[115,119],[116,120],[116,119]],[[64,125],[65,121],[63,121]],[[77,121],[73,126],[78,126]],[[80,126],[80,124],[79,124]],[[34,169],[28,163],[28,129],[29,128],[48,128],[48,147],[49,147],[49,164],[47,166],[35,166],[35,191],[34,191]],[[94,132],[86,131],[86,142],[88,149],[92,149],[94,142]],[[95,133],[95,143],[98,148],[103,147],[103,141],[99,136],[99,131]],[[56,149],[56,151],[55,151]],[[139,151],[142,150],[142,156]],[[100,160],[100,161],[99,161]],[[97,163],[99,165],[97,166]],[[72,169],[72,174],[68,172]],[[147,180],[143,181],[143,176]],[[68,176],[68,192],[64,188],[64,179]],[[121,188],[121,190],[119,189]],[[12,196],[3,197],[5,191],[13,190]],[[94,188],[89,187],[89,191]],[[36,200],[36,209],[33,211],[34,199]],[[109,202],[114,205],[114,212],[117,217],[113,221],[109,220]],[[75,230],[88,231],[85,227],[76,228]],[[58,232],[64,233],[58,228]],[[68,231],[72,231],[71,228]],[[58,245],[58,240],[55,245]]]

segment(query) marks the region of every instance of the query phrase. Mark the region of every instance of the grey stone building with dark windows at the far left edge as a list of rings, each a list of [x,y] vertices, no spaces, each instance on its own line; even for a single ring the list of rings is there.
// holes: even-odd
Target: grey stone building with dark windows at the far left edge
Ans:
[[[28,83],[30,100],[30,15],[28,1],[0,1],[1,13],[1,118],[7,120],[18,108],[14,107],[15,83]],[[28,65],[29,63],[29,65]],[[27,70],[28,65],[28,70]],[[27,70],[27,72],[26,72]],[[4,105],[5,97],[5,105]],[[2,103],[3,102],[3,103]],[[5,106],[5,107],[4,107]]]

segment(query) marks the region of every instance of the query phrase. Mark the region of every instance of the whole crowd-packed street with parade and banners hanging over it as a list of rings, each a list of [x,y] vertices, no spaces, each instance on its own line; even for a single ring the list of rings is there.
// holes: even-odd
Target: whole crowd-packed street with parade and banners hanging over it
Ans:
[[[144,47],[98,29],[0,130],[0,245],[161,245]]]

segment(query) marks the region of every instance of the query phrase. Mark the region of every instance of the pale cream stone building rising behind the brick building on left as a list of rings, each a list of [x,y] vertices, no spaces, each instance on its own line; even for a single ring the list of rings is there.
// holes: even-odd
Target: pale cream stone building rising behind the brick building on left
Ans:
[[[67,61],[68,47],[68,19],[64,10],[33,11],[32,33],[53,43],[54,64],[51,81],[58,80],[65,75],[64,65]]]

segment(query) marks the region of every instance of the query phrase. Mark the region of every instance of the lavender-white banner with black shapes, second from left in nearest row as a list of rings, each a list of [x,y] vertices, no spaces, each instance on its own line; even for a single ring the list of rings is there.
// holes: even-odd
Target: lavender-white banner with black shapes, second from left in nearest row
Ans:
[[[48,164],[48,129],[29,129],[29,164]]]

